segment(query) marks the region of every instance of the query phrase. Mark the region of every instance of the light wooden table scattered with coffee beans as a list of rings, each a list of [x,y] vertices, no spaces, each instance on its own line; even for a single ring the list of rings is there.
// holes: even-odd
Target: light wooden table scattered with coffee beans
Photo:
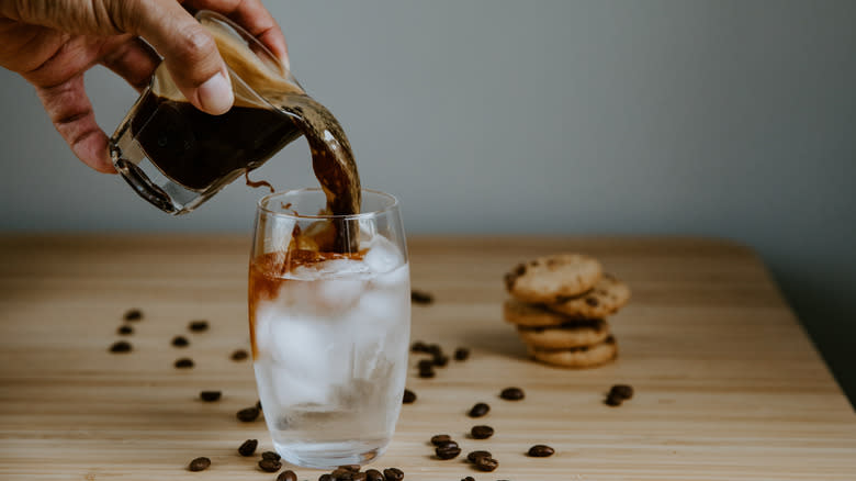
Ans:
[[[263,422],[239,423],[256,402],[248,347],[249,239],[235,236],[4,236],[0,238],[0,479],[273,480],[247,438],[271,443]],[[581,250],[633,289],[611,318],[617,362],[562,370],[527,359],[502,321],[502,275],[537,255]],[[395,439],[375,465],[406,480],[854,480],[856,416],[758,258],[717,240],[675,238],[455,238],[410,243],[413,284],[437,302],[414,306],[414,339],[472,348],[436,379],[408,387]],[[134,350],[108,353],[129,307]],[[189,333],[191,320],[211,329]],[[190,346],[178,349],[178,334]],[[173,361],[196,366],[178,370]],[[415,362],[415,359],[410,359]],[[635,387],[602,404],[616,382]],[[500,389],[527,398],[507,402]],[[203,403],[201,390],[222,390]],[[468,439],[465,412],[496,428]],[[488,449],[493,473],[431,458],[448,433],[464,452]],[[552,458],[528,458],[544,443]],[[198,456],[212,459],[189,472]],[[296,469],[300,479],[320,471]]]

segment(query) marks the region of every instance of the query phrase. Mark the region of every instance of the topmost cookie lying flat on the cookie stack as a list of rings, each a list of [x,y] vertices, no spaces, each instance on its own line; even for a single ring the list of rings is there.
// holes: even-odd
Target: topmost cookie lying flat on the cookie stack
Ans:
[[[560,254],[517,266],[505,275],[505,287],[519,301],[548,303],[588,291],[601,276],[600,262],[594,257]]]

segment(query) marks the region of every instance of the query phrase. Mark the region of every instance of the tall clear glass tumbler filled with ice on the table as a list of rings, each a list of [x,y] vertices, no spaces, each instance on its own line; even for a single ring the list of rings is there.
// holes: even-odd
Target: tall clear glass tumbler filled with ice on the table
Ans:
[[[256,382],[277,451],[302,467],[363,465],[402,406],[410,277],[398,202],[362,190],[325,215],[320,189],[259,201],[249,266]],[[347,242],[336,242],[345,237]],[[348,251],[334,251],[334,246]]]

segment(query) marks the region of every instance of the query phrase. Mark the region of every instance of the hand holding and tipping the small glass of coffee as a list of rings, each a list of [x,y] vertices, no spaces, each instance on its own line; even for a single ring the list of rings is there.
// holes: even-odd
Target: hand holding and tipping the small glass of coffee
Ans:
[[[115,172],[108,136],[83,88],[83,74],[93,65],[142,90],[160,61],[150,44],[198,109],[222,114],[234,102],[214,40],[182,4],[228,16],[288,65],[285,38],[261,0],[0,0],[0,66],[35,86],[80,160]]]

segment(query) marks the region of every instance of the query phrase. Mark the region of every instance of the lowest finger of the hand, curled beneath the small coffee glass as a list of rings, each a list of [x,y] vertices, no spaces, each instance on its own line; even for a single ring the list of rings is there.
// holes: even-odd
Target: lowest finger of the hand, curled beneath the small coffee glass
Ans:
[[[115,174],[108,156],[108,137],[95,123],[82,74],[55,87],[36,87],[36,93],[71,152],[99,172]]]

